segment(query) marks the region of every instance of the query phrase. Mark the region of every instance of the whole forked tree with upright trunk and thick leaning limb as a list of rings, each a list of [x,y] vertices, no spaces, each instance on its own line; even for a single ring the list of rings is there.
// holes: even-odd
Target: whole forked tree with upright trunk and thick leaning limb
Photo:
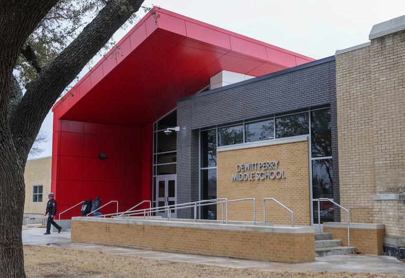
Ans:
[[[14,66],[26,38],[57,0],[0,0],[0,278],[25,277],[21,239],[23,174],[46,114],[64,88],[142,2],[107,1],[99,15],[41,72],[20,100],[10,96]]]

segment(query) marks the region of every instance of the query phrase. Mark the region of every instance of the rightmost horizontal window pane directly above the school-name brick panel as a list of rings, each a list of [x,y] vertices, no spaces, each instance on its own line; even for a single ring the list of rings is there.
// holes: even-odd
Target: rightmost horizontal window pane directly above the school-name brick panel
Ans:
[[[276,118],[276,138],[309,133],[308,113],[299,113]]]

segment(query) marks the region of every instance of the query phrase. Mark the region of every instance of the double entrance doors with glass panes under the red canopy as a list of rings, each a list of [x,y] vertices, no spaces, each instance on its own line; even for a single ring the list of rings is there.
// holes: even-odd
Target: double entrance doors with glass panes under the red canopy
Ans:
[[[156,204],[157,206],[173,205],[177,203],[177,175],[160,175],[156,176]],[[177,210],[171,210],[171,218],[177,218]],[[156,213],[163,218],[168,217],[167,209]]]

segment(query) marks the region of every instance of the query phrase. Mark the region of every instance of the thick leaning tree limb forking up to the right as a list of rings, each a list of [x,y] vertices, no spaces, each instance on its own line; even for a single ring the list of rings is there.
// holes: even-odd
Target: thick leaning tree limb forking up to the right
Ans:
[[[15,147],[24,165],[41,123],[64,88],[80,73],[143,0],[109,0],[81,34],[31,82],[13,111],[10,126]]]

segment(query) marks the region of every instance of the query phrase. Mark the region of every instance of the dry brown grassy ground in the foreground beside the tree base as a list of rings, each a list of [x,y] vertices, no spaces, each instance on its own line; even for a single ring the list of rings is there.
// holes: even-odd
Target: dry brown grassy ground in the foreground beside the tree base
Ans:
[[[404,278],[371,273],[266,272],[61,247],[24,245],[23,248],[28,278]]]

